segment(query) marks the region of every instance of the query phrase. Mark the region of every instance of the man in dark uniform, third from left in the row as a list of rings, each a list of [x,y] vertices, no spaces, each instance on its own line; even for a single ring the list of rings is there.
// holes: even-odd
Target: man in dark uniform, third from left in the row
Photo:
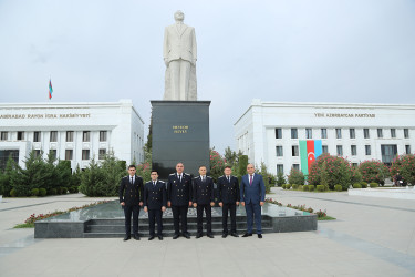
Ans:
[[[190,238],[187,232],[187,211],[191,206],[191,177],[184,173],[183,163],[176,164],[176,173],[168,176],[167,182],[167,206],[172,207],[175,234],[173,239],[180,236],[179,222],[181,222],[181,235]]]

